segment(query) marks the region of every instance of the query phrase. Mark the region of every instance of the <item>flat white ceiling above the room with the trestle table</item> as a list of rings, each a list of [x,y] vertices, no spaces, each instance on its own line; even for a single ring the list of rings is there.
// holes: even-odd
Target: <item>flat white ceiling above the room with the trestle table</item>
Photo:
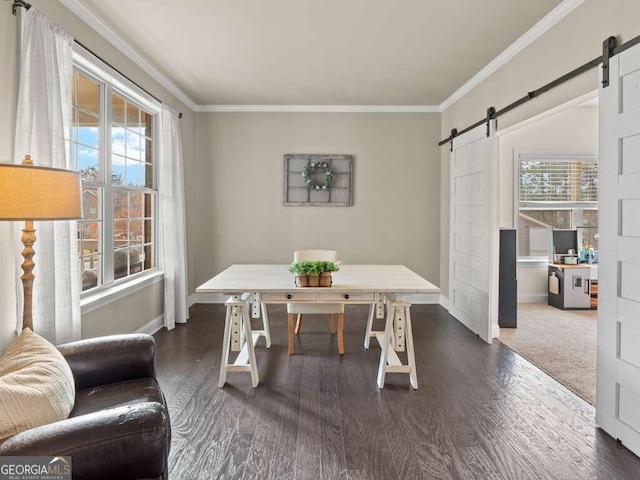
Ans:
[[[561,0],[63,3],[199,105],[439,105]]]

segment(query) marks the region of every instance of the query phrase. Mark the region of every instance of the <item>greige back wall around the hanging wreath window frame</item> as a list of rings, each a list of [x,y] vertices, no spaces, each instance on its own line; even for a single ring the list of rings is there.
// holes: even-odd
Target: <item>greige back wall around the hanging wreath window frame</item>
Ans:
[[[438,283],[439,114],[209,113],[198,119],[196,283],[233,263],[337,249]],[[283,206],[283,155],[355,155],[351,207]]]

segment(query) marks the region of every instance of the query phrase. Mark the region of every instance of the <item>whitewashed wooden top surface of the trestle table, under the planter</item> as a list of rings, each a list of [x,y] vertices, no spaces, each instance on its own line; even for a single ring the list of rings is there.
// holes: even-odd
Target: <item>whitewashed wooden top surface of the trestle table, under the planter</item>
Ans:
[[[289,265],[232,265],[203,283],[198,293],[349,291],[440,293],[440,289],[404,265],[340,265],[331,287],[295,286]]]

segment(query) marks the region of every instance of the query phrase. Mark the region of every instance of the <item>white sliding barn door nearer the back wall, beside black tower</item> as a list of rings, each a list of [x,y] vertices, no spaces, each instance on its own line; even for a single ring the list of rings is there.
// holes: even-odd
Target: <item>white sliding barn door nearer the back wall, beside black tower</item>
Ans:
[[[453,140],[449,223],[449,313],[491,343],[497,319],[497,228],[490,136],[480,126]]]

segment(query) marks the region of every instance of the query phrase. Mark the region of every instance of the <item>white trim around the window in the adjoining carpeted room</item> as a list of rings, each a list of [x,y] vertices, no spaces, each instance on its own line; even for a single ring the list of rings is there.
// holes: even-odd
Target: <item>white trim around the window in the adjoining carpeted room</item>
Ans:
[[[590,160],[598,161],[598,152],[585,151],[585,150],[569,150],[569,149],[545,149],[545,148],[530,148],[530,149],[514,149],[513,150],[513,228],[516,230],[516,238],[518,235],[518,214],[520,213],[520,162],[523,160],[530,161],[549,161],[549,160]],[[588,202],[573,202],[572,205],[580,206],[583,209],[593,209],[593,204]],[[533,206],[533,205],[531,205]],[[546,205],[549,210],[564,210],[568,209],[565,202],[550,202]],[[596,206],[597,208],[597,206]],[[537,210],[544,210],[542,207],[537,207]],[[518,249],[518,241],[516,240],[516,259],[518,266],[542,266],[549,263],[548,257],[527,257],[520,258],[520,251]]]

